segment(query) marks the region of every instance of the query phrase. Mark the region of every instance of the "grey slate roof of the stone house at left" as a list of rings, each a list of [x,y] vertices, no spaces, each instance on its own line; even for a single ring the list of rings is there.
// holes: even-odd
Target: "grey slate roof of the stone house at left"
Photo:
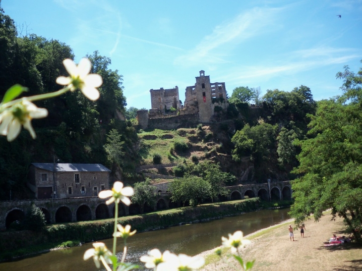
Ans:
[[[42,168],[49,171],[54,171],[53,163],[31,163],[37,168]],[[107,167],[100,163],[56,163],[56,171],[70,172],[70,171],[108,171],[111,172]]]

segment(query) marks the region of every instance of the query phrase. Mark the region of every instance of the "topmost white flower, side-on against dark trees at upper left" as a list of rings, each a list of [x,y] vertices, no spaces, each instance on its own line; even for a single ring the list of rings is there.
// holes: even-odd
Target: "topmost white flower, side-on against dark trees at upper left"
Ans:
[[[70,76],[60,76],[56,82],[63,86],[69,86],[71,91],[79,88],[89,100],[97,100],[99,91],[96,88],[102,85],[103,80],[99,74],[89,74],[92,67],[89,59],[82,58],[77,66],[73,60],[67,58],[63,60],[63,64]]]

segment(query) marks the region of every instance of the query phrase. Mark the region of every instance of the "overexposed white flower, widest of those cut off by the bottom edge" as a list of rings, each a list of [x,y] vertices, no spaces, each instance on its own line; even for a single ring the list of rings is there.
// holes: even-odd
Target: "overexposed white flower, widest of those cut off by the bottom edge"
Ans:
[[[205,264],[204,258],[200,256],[190,257],[185,254],[170,253],[164,257],[164,262],[157,266],[157,271],[195,271]]]

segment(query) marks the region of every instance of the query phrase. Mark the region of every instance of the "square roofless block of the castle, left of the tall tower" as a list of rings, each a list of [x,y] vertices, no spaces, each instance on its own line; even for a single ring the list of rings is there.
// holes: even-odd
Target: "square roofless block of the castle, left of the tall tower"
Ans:
[[[158,109],[165,112],[165,110],[168,110],[171,107],[175,109],[181,108],[178,86],[174,89],[151,89],[150,94],[151,109]]]

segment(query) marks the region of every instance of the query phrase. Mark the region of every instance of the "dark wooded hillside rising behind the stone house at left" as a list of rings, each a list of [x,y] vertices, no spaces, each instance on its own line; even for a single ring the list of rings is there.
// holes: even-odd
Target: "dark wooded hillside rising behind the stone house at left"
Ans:
[[[54,157],[60,163],[103,163],[113,172],[134,177],[130,164],[137,154],[121,163],[122,154],[133,152],[137,141],[131,123],[120,121],[126,106],[122,76],[109,68],[110,58],[97,51],[87,57],[93,64],[91,72],[103,77],[100,99],[93,102],[75,91],[36,102],[49,111],[47,118],[33,121],[36,140],[24,131],[11,143],[0,137],[0,200],[9,199],[10,193],[12,199],[28,198],[28,166],[52,163]],[[16,83],[28,88],[26,96],[59,90],[56,78],[67,74],[65,58],[74,58],[68,45],[35,34],[18,36],[14,21],[0,8],[0,98]],[[121,149],[116,152],[115,147]]]

